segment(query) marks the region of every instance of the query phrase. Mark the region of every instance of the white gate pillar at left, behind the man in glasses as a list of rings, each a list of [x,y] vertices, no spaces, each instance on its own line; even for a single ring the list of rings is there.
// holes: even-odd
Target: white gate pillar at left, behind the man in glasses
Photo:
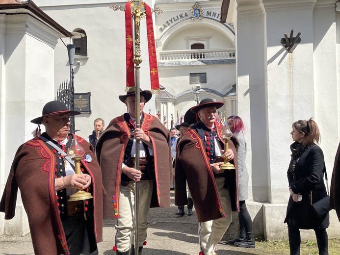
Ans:
[[[29,15],[0,15],[0,196],[18,147],[33,138],[46,102],[54,100],[54,47],[59,33]],[[16,215],[4,220],[0,235],[29,232],[27,216],[18,194]]]

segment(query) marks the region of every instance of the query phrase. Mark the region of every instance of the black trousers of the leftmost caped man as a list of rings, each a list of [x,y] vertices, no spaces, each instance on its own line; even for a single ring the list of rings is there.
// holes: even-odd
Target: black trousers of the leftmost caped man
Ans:
[[[69,216],[62,224],[71,255],[98,255],[93,217],[85,220],[83,214]]]

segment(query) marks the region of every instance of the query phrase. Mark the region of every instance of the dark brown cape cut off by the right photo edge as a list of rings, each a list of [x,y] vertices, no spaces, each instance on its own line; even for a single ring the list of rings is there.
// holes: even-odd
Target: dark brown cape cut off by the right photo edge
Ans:
[[[334,160],[329,204],[337,212],[340,221],[340,144]]]

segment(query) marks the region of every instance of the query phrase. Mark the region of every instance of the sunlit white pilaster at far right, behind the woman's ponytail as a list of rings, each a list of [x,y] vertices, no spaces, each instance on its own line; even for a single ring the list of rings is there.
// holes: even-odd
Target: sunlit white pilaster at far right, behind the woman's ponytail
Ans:
[[[317,0],[314,7],[314,101],[315,122],[321,133],[320,147],[331,173],[339,145],[340,118],[337,72],[337,22],[334,0]],[[340,2],[339,2],[340,4]],[[339,23],[338,23],[339,25]],[[339,26],[338,26],[339,30]],[[338,32],[338,38],[340,33]],[[338,39],[339,41],[339,39]],[[339,60],[338,60],[339,62]],[[339,64],[338,64],[339,67]],[[308,116],[307,116],[308,118]],[[329,174],[330,176],[331,174]],[[330,177],[329,177],[330,178]]]

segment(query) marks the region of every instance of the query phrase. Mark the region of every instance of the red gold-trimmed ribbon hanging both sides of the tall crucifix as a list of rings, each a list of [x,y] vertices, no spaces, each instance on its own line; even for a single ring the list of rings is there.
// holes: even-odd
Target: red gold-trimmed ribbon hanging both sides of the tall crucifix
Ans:
[[[154,26],[152,21],[152,10],[145,3],[146,29],[148,33],[148,50],[149,50],[149,68],[151,93],[159,94],[159,79],[157,69],[157,54],[155,45]],[[126,89],[125,91],[134,91],[134,63],[133,63],[133,36],[132,36],[132,18],[131,3],[125,4],[125,45],[126,45]]]

